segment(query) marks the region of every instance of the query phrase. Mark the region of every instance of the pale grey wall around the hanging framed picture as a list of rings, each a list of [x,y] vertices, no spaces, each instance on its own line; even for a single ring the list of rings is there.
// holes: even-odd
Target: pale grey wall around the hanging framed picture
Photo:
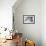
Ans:
[[[13,6],[15,28],[22,32],[24,38],[34,40],[41,46],[41,1],[23,0],[17,7]],[[35,24],[23,24],[23,15],[35,15]]]

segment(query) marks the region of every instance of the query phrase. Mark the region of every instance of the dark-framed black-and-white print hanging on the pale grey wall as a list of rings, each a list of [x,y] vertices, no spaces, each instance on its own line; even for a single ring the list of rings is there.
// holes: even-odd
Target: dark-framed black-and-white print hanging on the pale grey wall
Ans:
[[[23,24],[35,24],[35,15],[23,15]]]

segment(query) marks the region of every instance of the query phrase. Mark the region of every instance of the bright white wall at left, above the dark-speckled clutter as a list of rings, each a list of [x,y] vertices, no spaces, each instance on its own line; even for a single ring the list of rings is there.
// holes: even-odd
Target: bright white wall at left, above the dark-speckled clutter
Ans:
[[[12,6],[16,0],[0,0],[0,27],[12,28]]]

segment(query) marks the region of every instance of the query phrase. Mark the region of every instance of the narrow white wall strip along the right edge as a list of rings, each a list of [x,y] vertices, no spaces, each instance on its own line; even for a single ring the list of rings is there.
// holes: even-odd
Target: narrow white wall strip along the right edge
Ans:
[[[42,46],[46,46],[46,0],[41,1],[41,40]]]

